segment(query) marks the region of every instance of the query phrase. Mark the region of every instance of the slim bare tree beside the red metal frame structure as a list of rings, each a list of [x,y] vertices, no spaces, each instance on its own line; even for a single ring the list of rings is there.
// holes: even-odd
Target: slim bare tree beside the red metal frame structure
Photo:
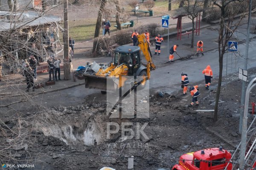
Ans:
[[[198,0],[185,0],[183,9],[188,14],[189,19],[192,20],[192,35],[190,48],[194,48],[194,34],[195,34],[195,18],[198,17],[198,13],[202,10],[202,3]]]

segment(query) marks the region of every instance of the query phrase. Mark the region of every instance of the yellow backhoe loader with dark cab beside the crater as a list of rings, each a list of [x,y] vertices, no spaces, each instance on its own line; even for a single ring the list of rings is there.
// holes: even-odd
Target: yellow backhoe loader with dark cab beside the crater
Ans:
[[[141,51],[147,62],[145,64],[141,61]],[[85,88],[99,89],[102,93],[114,92],[119,88],[131,89],[137,85],[144,88],[146,81],[150,79],[150,71],[155,68],[145,35],[138,35],[138,46],[119,46],[112,62],[93,68],[96,70],[93,75],[85,72]]]

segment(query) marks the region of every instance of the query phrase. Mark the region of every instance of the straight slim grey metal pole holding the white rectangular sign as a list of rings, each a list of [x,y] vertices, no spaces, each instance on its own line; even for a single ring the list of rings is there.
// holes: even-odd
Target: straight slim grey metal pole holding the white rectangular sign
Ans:
[[[251,12],[252,12],[252,0],[250,0],[250,3],[249,3],[249,14],[248,14],[248,23],[247,23],[247,36],[246,36],[245,61],[244,61],[244,69],[246,69],[246,70],[247,70],[247,61],[248,61]],[[245,85],[246,85],[246,82],[243,81],[242,96],[241,96],[240,120],[239,120],[239,134],[242,133],[242,120],[243,120],[243,114],[244,114],[243,111],[244,111],[244,101],[245,101],[245,91],[246,91]]]

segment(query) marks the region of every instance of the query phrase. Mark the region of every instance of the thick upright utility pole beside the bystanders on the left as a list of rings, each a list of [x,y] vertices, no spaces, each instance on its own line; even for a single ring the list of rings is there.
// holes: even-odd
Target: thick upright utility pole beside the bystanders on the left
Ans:
[[[70,62],[69,62],[69,40],[68,40],[68,1],[64,3],[64,80],[70,80]]]

